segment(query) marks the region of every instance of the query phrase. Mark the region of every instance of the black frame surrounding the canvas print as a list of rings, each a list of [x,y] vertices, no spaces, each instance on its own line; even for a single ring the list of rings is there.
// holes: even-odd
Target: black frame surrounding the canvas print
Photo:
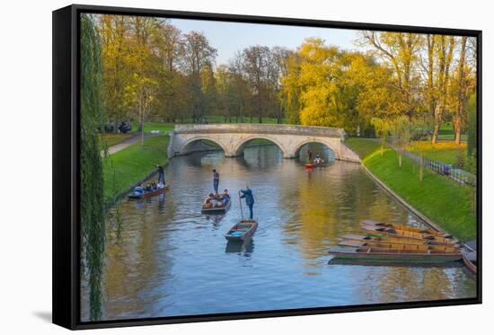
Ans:
[[[477,297],[428,302],[346,305],[251,313],[184,315],[180,317],[146,318],[121,321],[81,322],[80,320],[80,258],[79,258],[79,17],[81,13],[111,13],[167,18],[213,20],[220,22],[253,22],[342,28],[350,30],[410,31],[477,38]],[[482,110],[482,32],[475,30],[414,27],[377,23],[332,22],[220,13],[192,13],[141,8],[123,8],[73,4],[53,12],[53,323],[71,330],[153,325],[179,322],[210,322],[233,319],[293,316],[321,313],[349,313],[401,308],[481,304],[482,293],[482,229],[481,229],[481,110]]]

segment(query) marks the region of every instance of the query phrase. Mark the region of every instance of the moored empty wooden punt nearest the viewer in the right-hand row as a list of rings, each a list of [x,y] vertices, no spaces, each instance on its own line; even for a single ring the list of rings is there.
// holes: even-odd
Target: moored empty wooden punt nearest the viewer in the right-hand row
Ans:
[[[388,248],[330,248],[328,251],[341,260],[369,260],[405,263],[444,263],[462,259],[460,252],[409,251]]]

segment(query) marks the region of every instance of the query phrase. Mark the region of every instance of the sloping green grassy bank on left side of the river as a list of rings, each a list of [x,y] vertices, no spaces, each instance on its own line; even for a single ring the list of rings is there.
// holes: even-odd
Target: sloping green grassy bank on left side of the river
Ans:
[[[105,198],[112,198],[155,170],[156,163],[168,162],[168,136],[148,137],[103,159]]]

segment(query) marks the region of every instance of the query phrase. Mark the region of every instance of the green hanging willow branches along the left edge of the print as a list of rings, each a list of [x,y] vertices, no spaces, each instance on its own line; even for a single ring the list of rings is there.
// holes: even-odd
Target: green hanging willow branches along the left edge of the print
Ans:
[[[91,320],[101,318],[101,276],[105,216],[101,149],[98,131],[104,109],[101,43],[91,16],[81,17],[81,274],[87,276]]]

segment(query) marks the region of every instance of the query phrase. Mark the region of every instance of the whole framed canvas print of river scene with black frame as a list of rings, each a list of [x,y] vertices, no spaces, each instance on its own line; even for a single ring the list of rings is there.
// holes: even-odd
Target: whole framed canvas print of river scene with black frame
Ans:
[[[53,322],[481,303],[481,31],[53,12]]]

